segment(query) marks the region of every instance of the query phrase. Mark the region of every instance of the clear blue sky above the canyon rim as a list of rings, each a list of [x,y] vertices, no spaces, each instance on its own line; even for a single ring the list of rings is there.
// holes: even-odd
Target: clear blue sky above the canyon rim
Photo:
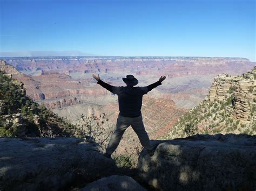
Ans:
[[[255,61],[254,0],[0,1],[0,52]]]

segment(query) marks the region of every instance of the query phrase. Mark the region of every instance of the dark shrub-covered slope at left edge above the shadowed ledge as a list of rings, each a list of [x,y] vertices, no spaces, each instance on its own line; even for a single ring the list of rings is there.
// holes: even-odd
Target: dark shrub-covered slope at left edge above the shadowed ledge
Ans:
[[[73,134],[73,125],[25,94],[22,82],[0,71],[0,137]]]

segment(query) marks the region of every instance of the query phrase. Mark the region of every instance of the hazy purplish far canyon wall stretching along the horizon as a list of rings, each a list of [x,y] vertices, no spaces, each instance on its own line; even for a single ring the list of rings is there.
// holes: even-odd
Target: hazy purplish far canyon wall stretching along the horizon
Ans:
[[[8,63],[25,73],[51,71],[80,73],[127,73],[154,75],[164,72],[169,77],[220,73],[241,74],[253,66],[253,62],[240,58],[12,58]],[[242,70],[241,70],[242,68]]]

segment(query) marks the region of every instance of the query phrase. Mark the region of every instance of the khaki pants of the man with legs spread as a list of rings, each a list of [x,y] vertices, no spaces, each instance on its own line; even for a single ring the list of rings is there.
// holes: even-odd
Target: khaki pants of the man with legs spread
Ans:
[[[116,129],[114,130],[109,145],[106,148],[106,152],[112,154],[114,150],[116,150],[117,146],[120,143],[120,140],[124,134],[124,131],[132,126],[132,129],[136,132],[139,137],[140,143],[142,146],[146,148],[146,150],[152,150],[153,146],[150,143],[149,136],[147,136],[147,132],[144,128],[144,124],[142,121],[142,115],[139,117],[123,117],[118,116]]]

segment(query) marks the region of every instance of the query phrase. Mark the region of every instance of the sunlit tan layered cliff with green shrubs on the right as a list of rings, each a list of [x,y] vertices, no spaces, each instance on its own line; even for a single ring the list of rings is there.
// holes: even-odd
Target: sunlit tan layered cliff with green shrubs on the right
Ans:
[[[256,66],[240,76],[215,77],[205,100],[181,116],[164,138],[220,132],[256,134]]]

